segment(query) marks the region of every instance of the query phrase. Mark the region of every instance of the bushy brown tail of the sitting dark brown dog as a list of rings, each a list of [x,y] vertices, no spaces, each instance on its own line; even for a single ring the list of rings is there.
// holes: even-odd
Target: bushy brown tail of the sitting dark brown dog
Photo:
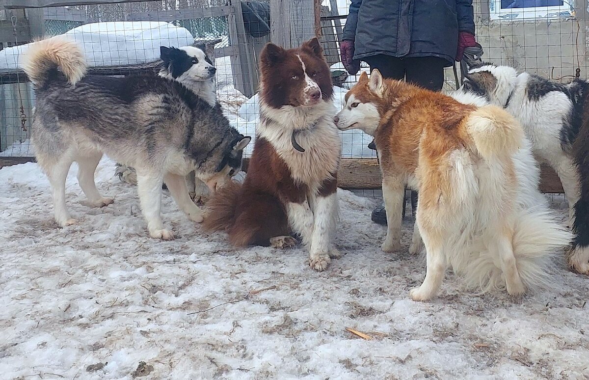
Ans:
[[[207,200],[203,227],[208,231],[228,231],[233,226],[237,197],[241,183],[230,181],[227,186],[215,191]]]

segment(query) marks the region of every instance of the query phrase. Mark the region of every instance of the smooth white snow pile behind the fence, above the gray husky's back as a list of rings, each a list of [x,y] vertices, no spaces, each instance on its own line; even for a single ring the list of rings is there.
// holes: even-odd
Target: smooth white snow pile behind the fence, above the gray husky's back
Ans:
[[[186,28],[168,22],[113,21],[81,25],[60,37],[77,41],[90,66],[112,66],[153,62],[160,58],[161,46],[192,45],[194,38]],[[0,51],[0,68],[16,69],[19,55],[31,44]]]

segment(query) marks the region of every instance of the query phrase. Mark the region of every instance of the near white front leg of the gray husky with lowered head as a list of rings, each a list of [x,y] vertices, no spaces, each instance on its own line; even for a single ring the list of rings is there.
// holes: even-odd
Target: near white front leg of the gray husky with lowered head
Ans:
[[[174,234],[161,221],[161,173],[137,170],[137,191],[147,229],[154,239],[172,240]]]

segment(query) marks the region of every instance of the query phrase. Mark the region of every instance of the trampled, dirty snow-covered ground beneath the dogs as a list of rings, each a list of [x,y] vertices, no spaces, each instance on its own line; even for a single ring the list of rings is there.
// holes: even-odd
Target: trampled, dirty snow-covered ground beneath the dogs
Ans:
[[[37,164],[0,169],[0,378],[589,378],[589,279],[561,256],[544,292],[473,296],[448,275],[439,299],[418,303],[411,224],[403,252],[380,252],[370,199],[339,191],[344,255],[317,273],[300,247],[237,250],[203,233],[168,193],[178,239],[149,239],[112,162],[97,170],[115,196],[104,209],[82,204],[74,172],[67,200],[80,223],[59,229]],[[552,204],[564,219],[564,201]]]

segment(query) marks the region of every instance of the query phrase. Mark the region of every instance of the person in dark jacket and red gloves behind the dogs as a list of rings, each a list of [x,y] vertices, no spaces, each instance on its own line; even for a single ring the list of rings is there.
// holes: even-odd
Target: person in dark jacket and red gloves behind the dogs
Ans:
[[[386,78],[439,91],[444,68],[475,46],[472,0],[352,0],[340,55],[350,75],[364,61]],[[411,204],[415,214],[415,191]],[[386,224],[384,206],[373,210],[372,220]]]

